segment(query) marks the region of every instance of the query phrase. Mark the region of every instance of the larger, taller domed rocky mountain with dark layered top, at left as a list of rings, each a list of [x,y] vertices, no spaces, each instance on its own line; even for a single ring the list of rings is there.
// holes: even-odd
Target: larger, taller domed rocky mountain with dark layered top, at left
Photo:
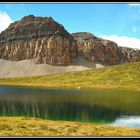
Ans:
[[[0,34],[1,59],[68,65],[75,57],[76,41],[51,17],[26,16]]]

